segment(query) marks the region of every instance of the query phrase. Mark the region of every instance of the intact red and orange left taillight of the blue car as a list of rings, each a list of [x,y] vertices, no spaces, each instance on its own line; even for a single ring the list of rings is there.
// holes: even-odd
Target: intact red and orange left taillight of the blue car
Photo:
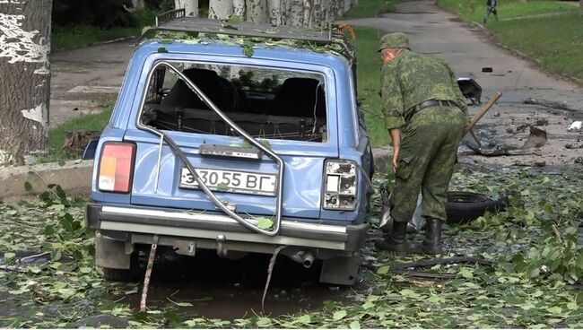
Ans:
[[[135,144],[104,143],[97,178],[101,191],[129,193],[134,169]]]

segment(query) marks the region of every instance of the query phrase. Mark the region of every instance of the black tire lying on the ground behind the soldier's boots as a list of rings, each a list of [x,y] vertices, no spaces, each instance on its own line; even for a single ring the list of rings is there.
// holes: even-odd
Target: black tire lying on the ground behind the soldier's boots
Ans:
[[[486,211],[500,212],[506,208],[506,199],[492,200],[486,195],[465,191],[448,192],[448,223],[467,223],[482,216]]]

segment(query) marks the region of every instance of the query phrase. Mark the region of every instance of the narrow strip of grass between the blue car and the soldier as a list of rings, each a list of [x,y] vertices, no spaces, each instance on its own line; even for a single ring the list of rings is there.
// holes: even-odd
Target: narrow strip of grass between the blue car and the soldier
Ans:
[[[363,2],[363,1],[361,1]],[[375,29],[355,28],[356,57],[358,58],[357,79],[360,109],[364,113],[370,143],[373,147],[386,145],[390,140],[380,108],[380,57],[379,32]]]

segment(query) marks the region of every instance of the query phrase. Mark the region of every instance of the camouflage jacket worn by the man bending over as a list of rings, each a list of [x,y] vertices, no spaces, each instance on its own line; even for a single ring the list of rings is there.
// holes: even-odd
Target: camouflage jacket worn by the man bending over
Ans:
[[[456,76],[438,58],[405,51],[383,65],[382,107],[388,129],[405,126],[414,107],[424,100],[452,100],[467,115],[466,98]]]

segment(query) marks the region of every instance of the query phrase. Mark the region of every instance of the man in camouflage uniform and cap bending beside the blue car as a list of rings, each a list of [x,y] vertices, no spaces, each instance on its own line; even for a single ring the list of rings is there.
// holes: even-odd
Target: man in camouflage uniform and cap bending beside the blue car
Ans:
[[[449,66],[410,51],[404,33],[385,35],[379,52],[382,105],[393,141],[396,185],[389,198],[393,227],[375,246],[397,255],[440,254],[449,180],[467,121],[466,99]],[[406,228],[420,191],[425,238],[411,249]]]

